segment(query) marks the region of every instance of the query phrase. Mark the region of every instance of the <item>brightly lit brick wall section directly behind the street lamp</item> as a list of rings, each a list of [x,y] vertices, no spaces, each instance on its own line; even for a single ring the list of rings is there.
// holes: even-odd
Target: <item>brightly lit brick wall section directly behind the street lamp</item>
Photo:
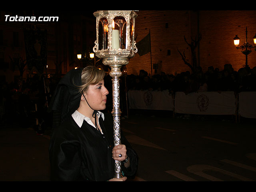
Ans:
[[[207,66],[223,69],[224,64],[232,64],[234,70],[245,65],[246,56],[234,46],[233,38],[240,37],[240,45],[247,38],[254,45],[256,33],[256,11],[200,11],[200,65],[204,70]],[[256,66],[256,52],[248,55],[250,68]]]

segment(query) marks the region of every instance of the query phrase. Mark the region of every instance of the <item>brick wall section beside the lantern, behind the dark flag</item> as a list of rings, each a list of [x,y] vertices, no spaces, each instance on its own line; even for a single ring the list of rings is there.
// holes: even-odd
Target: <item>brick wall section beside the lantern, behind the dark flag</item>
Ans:
[[[135,20],[136,42],[142,40],[150,30],[152,65],[157,63],[157,72],[175,73],[188,70],[181,60],[177,48],[187,54],[187,45],[183,36],[189,35],[189,17],[187,11],[139,11]],[[166,28],[166,23],[168,27]],[[170,55],[168,55],[170,50]],[[189,56],[189,55],[188,55]],[[138,74],[144,69],[151,74],[150,53],[136,54],[127,65],[128,74]],[[153,70],[154,74],[154,70]]]

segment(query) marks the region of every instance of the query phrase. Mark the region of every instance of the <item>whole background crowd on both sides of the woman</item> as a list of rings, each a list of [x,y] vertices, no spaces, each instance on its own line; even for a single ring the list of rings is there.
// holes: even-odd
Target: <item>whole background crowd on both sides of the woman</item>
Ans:
[[[140,70],[138,75],[129,74],[120,77],[121,106],[125,106],[125,90],[169,90],[175,92],[202,91],[256,91],[256,67],[243,67],[238,71],[231,64],[224,65],[223,70],[209,66],[206,72],[201,67],[194,72],[181,72],[180,74],[154,74],[150,76],[145,70]],[[47,104],[55,90],[59,78],[42,78],[37,74],[27,78],[22,83],[19,81],[1,82],[0,84],[0,120],[11,122],[16,118],[22,126],[28,127],[35,122],[38,116],[39,124],[44,120],[49,124],[51,116],[46,112]],[[109,90],[107,109],[112,109],[112,77],[105,77],[105,86]],[[47,98],[47,100],[46,100]],[[122,109],[125,111],[125,109]],[[33,117],[33,118],[31,118]],[[41,120],[40,120],[41,119]]]

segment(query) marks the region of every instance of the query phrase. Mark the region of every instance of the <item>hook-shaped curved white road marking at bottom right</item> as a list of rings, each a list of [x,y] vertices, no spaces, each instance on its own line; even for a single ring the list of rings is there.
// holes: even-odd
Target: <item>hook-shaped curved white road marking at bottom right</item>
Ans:
[[[203,171],[209,171],[209,170],[212,170],[214,172],[221,172],[223,174],[226,174],[226,175],[229,175],[229,176],[232,176],[234,178],[238,178],[239,180],[242,180],[242,181],[253,181],[249,178],[246,178],[246,177],[243,177],[243,176],[240,176],[238,174],[234,174],[232,172],[229,172],[229,171],[226,171],[226,170],[223,170],[223,169],[220,169],[220,168],[216,168],[214,166],[210,166],[210,165],[203,165],[203,164],[200,164],[200,165],[192,165],[192,166],[189,166],[187,168],[188,172],[191,172],[191,173],[194,173],[198,176],[201,176],[203,178],[206,178],[208,180],[211,180],[211,181],[223,181],[219,178],[216,178],[214,176],[210,176],[206,173],[204,173]]]

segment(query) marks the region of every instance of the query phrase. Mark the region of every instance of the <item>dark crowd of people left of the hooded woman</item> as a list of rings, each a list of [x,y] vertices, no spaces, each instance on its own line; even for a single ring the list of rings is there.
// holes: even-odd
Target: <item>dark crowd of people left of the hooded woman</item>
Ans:
[[[18,124],[24,128],[42,124],[50,126],[51,116],[46,110],[60,78],[42,78],[35,74],[26,81],[0,84],[0,123]],[[15,119],[16,121],[13,121]]]

